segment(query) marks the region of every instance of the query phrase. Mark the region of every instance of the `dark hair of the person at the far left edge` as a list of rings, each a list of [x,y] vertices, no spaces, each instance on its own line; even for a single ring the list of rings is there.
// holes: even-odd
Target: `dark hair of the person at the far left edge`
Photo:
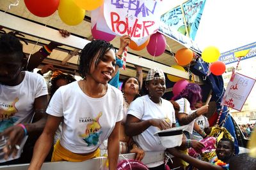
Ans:
[[[11,34],[3,34],[0,37],[0,53],[15,55],[20,61],[24,58],[22,43]]]

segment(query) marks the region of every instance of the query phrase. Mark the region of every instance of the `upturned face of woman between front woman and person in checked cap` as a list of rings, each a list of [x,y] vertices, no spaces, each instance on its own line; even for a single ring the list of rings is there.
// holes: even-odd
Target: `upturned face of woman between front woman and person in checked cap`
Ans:
[[[124,88],[122,89],[125,95],[133,95],[134,97],[139,93],[139,82],[136,78],[131,77],[125,81]]]

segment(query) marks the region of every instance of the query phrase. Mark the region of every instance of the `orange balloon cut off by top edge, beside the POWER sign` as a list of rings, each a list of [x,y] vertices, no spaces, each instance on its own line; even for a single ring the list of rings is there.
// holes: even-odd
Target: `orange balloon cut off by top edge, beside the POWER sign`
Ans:
[[[74,0],[77,6],[89,11],[97,9],[103,1],[104,0]]]

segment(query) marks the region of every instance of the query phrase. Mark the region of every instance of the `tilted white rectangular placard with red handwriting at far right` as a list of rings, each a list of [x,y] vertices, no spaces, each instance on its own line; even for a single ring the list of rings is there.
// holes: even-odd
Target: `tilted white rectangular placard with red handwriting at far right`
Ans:
[[[255,79],[235,73],[228,83],[221,105],[241,111],[254,83]]]

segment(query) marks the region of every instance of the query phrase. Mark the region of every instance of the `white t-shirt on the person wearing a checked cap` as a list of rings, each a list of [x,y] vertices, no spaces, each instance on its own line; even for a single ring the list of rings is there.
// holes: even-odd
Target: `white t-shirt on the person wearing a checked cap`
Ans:
[[[149,99],[148,95],[138,97],[131,103],[127,114],[140,120],[168,118],[171,125],[175,124],[175,111],[172,103],[165,99],[161,100],[162,104],[156,104]],[[141,134],[133,136],[133,139],[145,151],[164,151],[166,148],[161,145],[159,137],[154,136],[154,133],[158,131],[160,131],[159,128],[150,126]]]

